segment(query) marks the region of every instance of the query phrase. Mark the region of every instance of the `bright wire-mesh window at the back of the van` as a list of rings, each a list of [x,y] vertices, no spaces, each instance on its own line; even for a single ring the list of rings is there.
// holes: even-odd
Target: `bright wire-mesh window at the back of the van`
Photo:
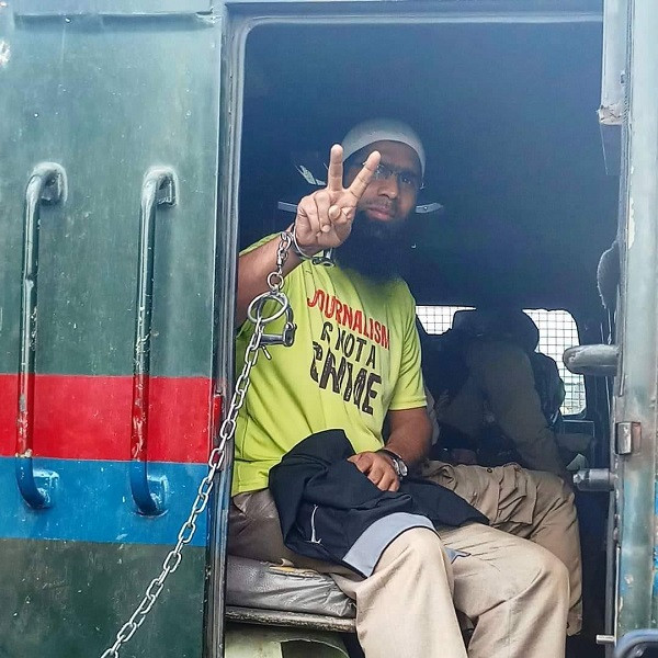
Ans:
[[[428,333],[443,333],[452,327],[453,316],[466,306],[418,306],[418,317]],[[564,416],[572,416],[585,410],[585,378],[574,375],[563,363],[567,348],[577,345],[578,328],[566,310],[529,309],[525,311],[540,329],[540,352],[555,359],[559,374],[565,382],[566,396],[561,406]]]

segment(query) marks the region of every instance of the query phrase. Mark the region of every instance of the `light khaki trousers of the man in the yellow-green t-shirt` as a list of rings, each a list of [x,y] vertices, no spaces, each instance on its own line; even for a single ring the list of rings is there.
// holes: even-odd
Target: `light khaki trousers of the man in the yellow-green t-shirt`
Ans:
[[[467,555],[451,564],[445,547]],[[408,530],[386,548],[373,575],[360,578],[288,551],[265,489],[234,497],[228,551],[330,574],[356,601],[356,633],[366,658],[565,655],[566,567],[545,548],[492,527]],[[455,609],[475,623],[468,651]]]

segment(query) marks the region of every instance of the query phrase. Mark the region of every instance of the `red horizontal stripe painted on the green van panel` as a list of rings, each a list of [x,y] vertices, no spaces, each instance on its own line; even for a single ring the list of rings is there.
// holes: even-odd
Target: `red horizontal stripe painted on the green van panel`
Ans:
[[[16,447],[18,374],[0,374],[0,455]],[[36,375],[33,454],[66,460],[131,458],[132,376]],[[148,460],[207,460],[212,381],[151,377]]]

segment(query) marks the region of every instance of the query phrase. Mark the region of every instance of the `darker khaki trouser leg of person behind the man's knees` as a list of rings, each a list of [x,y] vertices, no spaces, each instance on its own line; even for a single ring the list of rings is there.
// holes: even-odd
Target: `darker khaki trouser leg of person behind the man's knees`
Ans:
[[[452,489],[492,527],[530,540],[558,557],[569,572],[567,635],[582,627],[582,563],[574,492],[551,473],[518,464],[485,468],[428,462],[422,476]]]

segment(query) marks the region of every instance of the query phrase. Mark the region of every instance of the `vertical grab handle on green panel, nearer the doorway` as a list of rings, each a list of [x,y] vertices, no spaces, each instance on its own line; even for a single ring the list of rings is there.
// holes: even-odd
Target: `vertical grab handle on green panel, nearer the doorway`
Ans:
[[[175,195],[175,175],[172,169],[154,167],[146,172],[141,184],[139,211],[139,256],[133,354],[131,491],[139,513],[149,517],[164,512],[167,490],[166,478],[157,478],[148,474],[147,451],[156,215],[158,206],[174,205]]]

